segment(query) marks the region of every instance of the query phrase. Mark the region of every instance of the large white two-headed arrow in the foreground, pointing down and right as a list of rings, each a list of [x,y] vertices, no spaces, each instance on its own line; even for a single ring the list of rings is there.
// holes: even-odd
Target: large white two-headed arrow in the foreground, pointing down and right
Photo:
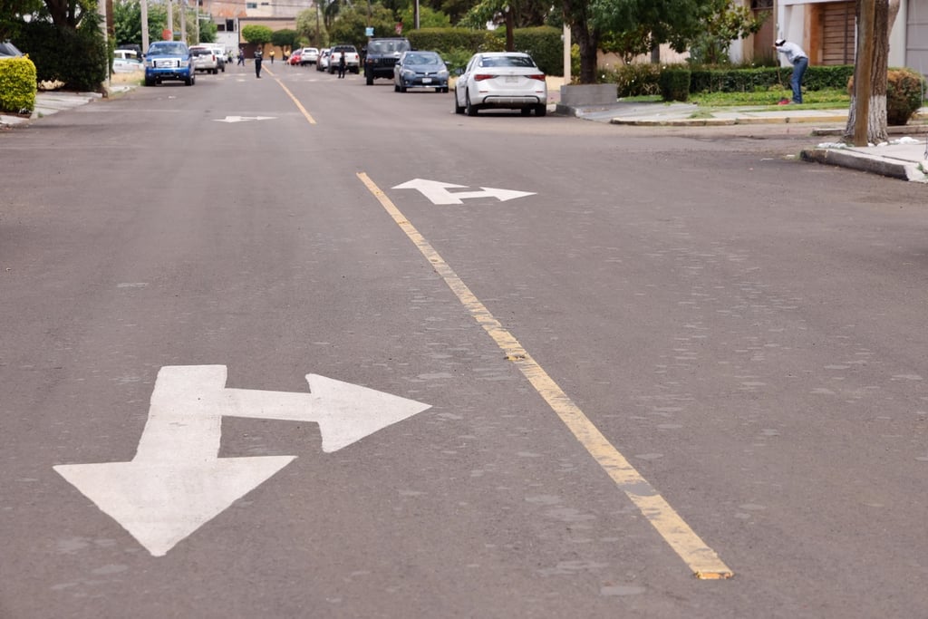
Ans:
[[[218,458],[223,417],[315,421],[329,453],[430,407],[316,374],[306,380],[311,393],[227,389],[226,366],[161,368],[131,462],[54,469],[161,557],[296,458]]]

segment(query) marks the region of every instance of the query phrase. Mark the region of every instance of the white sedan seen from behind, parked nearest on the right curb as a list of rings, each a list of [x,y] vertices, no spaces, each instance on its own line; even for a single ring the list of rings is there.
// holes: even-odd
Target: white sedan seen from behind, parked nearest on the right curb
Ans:
[[[527,116],[548,113],[548,84],[535,60],[522,52],[474,54],[455,85],[455,113],[476,116],[478,110],[522,110]]]

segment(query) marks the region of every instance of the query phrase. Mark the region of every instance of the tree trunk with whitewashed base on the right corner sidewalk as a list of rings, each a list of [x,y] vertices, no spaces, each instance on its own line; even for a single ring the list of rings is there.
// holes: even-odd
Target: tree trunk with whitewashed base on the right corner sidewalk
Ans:
[[[860,2],[857,1],[857,22]],[[873,61],[870,63],[870,110],[867,119],[867,141],[880,144],[889,140],[886,121],[886,75],[889,71],[889,33],[893,30],[896,14],[899,12],[899,0],[876,0],[876,12],[873,22]],[[854,91],[857,91],[855,84]],[[855,93],[851,93],[851,106],[847,113],[847,125],[844,127],[844,141],[854,141],[854,124],[856,122]]]

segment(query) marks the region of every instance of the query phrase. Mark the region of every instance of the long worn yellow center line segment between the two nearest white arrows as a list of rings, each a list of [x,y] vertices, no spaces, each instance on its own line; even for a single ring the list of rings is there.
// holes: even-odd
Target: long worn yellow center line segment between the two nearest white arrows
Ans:
[[[435,272],[445,280],[448,288],[458,296],[458,300],[468,310],[470,316],[473,316],[493,338],[506,358],[516,363],[516,367],[535,387],[535,391],[558,414],[564,425],[573,432],[589,455],[599,462],[599,466],[606,471],[612,481],[625,493],[625,496],[628,496],[638,507],[648,522],[651,522],[670,548],[673,548],[680,559],[686,562],[693,575],[706,580],[730,578],[734,575],[715,554],[715,550],[706,546],[700,536],[690,528],[690,525],[683,521],[654,486],[641,476],[641,473],[625,456],[619,453],[602,432],[599,432],[599,429],[586,417],[580,407],[576,406],[570,396],[561,390],[558,383],[548,376],[548,372],[532,358],[532,355],[528,354],[522,344],[509,333],[509,330],[490,314],[480,299],[470,291],[460,277],[445,263],[442,256],[435,251],[432,244],[419,234],[415,226],[410,224],[406,216],[396,208],[393,201],[387,198],[367,174],[359,172],[357,177],[380,201],[380,205],[393,217],[393,221],[406,233],[406,237],[419,248],[425,259],[432,264]]]

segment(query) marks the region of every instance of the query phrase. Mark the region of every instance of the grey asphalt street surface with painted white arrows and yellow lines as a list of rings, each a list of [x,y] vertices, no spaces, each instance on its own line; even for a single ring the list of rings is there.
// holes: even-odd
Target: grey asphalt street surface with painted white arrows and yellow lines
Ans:
[[[928,616],[923,186],[264,64],[0,134],[0,617]]]

